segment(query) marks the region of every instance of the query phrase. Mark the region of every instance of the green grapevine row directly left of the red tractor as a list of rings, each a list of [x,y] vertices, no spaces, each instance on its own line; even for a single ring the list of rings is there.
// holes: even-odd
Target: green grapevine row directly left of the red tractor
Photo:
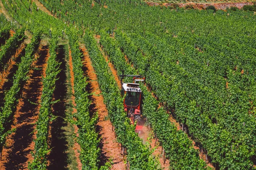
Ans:
[[[135,127],[130,125],[130,120],[126,117],[119,89],[116,86],[113,75],[108,72],[108,64],[99,51],[91,32],[85,32],[84,42],[96,71],[104,102],[108,108],[108,114],[115,127],[117,141],[127,150],[130,168],[142,170],[159,169],[157,160],[154,160],[149,149],[143,145],[134,131]]]

